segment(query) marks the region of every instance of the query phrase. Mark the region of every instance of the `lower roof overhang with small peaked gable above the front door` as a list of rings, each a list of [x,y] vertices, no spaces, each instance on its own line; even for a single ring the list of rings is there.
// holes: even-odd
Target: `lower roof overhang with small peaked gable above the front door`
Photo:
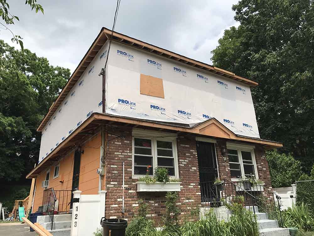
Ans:
[[[231,142],[251,143],[262,145],[265,150],[282,147],[282,143],[263,140],[259,138],[250,138],[238,136],[215,118],[199,123],[191,127],[182,127],[176,123],[164,124],[156,121],[139,120],[135,118],[108,115],[104,113],[93,113],[76,130],[74,130],[62,143],[60,143],[49,155],[46,156],[27,176],[26,178],[36,178],[41,171],[51,166],[54,161],[65,156],[69,150],[79,146],[80,143],[87,140],[100,129],[101,125],[121,123],[124,126],[133,126],[137,128],[150,128],[158,131],[175,132],[177,134],[195,134],[202,137],[221,138]]]

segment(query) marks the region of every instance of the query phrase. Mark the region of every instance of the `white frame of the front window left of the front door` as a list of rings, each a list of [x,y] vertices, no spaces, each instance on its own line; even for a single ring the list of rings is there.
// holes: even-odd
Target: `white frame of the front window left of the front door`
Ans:
[[[173,137],[169,137],[169,136],[173,136]],[[177,151],[177,143],[176,143],[177,135],[175,133],[157,132],[157,131],[142,130],[142,129],[133,129],[133,132],[132,132],[132,177],[134,179],[138,179],[140,177],[144,177],[145,175],[135,175],[134,174],[134,138],[144,138],[144,139],[152,140],[151,148],[152,148],[153,168],[154,169],[157,167],[157,165],[156,165],[156,163],[157,163],[157,140],[172,142],[172,152],[173,152],[173,159],[174,159],[175,176],[170,176],[170,178],[173,178],[173,179],[179,178],[178,151]],[[167,157],[165,157],[165,158],[167,158]],[[154,172],[154,169],[153,169],[153,172]]]

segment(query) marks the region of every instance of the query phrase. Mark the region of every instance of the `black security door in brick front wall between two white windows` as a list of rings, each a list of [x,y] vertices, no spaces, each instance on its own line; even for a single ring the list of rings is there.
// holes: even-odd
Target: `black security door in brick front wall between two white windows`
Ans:
[[[197,141],[196,148],[202,202],[215,202],[215,199],[220,198],[214,185],[214,181],[218,177],[215,145]]]

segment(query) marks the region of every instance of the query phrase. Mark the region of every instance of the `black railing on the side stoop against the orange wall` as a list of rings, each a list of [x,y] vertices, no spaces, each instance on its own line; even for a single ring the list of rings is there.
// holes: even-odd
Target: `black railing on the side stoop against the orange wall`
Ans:
[[[44,190],[42,212],[49,216],[51,230],[53,228],[54,215],[67,213],[70,210],[71,194],[71,190],[54,190],[53,188]]]

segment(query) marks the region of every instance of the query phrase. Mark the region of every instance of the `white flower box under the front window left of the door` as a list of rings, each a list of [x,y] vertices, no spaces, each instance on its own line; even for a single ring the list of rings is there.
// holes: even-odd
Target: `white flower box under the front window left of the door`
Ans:
[[[168,183],[146,183],[136,182],[137,192],[172,192],[181,191],[181,182],[168,182]]]

